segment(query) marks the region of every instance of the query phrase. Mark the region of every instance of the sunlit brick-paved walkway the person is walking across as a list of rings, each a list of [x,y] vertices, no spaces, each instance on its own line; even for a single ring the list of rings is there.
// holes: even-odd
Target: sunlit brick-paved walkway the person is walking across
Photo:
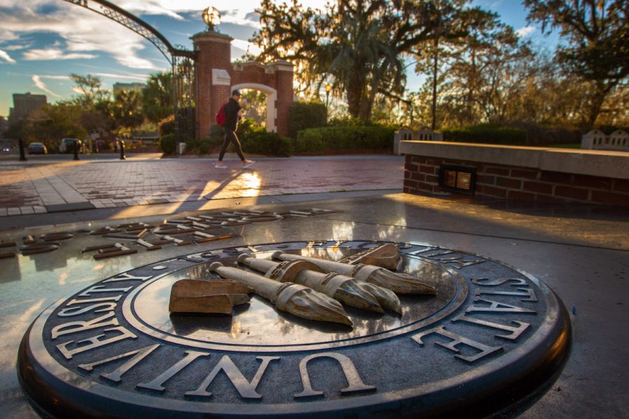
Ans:
[[[294,193],[402,189],[400,156],[0,161],[0,216]]]

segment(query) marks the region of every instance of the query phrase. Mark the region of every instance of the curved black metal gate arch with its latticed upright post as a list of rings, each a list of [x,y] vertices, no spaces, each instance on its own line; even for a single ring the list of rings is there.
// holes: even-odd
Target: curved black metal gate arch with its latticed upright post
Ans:
[[[110,20],[122,24],[122,26],[136,34],[143,36],[155,45],[159,52],[166,57],[173,71],[173,108],[175,111],[175,137],[177,142],[186,138],[194,138],[196,135],[196,122],[194,120],[194,108],[196,89],[194,88],[196,72],[196,55],[193,51],[186,50],[177,45],[173,47],[170,42],[154,27],[150,26],[139,17],[106,0],[64,0],[77,6],[99,13]],[[175,153],[177,153],[175,147]]]

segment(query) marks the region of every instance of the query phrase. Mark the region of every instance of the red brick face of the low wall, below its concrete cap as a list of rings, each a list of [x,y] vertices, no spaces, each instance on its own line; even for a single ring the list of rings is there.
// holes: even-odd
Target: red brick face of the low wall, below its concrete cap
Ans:
[[[406,156],[404,169],[404,192],[453,193],[444,191],[439,186],[441,165],[475,168],[477,176],[475,196],[629,206],[629,179],[409,154]]]

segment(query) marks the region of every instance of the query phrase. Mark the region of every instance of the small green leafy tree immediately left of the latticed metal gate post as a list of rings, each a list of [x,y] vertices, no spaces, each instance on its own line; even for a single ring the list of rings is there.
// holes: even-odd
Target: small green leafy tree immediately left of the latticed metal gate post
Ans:
[[[155,124],[173,115],[173,73],[150,75],[142,89],[142,111],[146,119]]]

